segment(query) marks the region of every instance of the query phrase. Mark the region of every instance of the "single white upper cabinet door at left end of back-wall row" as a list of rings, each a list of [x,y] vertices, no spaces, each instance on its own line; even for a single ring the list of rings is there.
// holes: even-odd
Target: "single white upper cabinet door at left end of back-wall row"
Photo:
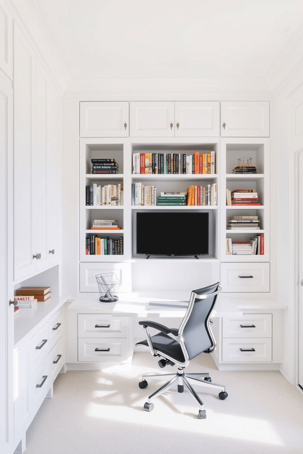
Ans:
[[[80,102],[80,137],[128,137],[129,103]]]

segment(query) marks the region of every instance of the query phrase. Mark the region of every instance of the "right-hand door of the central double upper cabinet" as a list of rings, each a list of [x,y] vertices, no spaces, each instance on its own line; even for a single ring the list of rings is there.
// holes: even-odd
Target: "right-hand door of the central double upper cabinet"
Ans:
[[[218,137],[219,101],[176,101],[175,137]]]

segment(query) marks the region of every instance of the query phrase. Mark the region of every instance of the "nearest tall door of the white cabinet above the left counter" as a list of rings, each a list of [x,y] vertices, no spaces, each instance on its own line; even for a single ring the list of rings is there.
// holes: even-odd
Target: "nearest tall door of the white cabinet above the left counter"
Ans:
[[[17,25],[14,27],[14,278],[35,272],[33,205],[35,54]]]

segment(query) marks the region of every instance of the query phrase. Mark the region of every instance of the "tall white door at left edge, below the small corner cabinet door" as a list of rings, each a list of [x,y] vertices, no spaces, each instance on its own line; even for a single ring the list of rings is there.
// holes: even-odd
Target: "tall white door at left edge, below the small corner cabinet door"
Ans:
[[[0,454],[13,448],[12,89],[0,78]]]

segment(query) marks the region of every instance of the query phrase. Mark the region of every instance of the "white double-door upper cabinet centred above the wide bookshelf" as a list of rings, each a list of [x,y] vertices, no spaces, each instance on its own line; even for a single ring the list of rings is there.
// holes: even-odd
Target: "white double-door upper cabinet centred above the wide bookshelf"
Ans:
[[[219,101],[130,101],[131,137],[217,137]]]

